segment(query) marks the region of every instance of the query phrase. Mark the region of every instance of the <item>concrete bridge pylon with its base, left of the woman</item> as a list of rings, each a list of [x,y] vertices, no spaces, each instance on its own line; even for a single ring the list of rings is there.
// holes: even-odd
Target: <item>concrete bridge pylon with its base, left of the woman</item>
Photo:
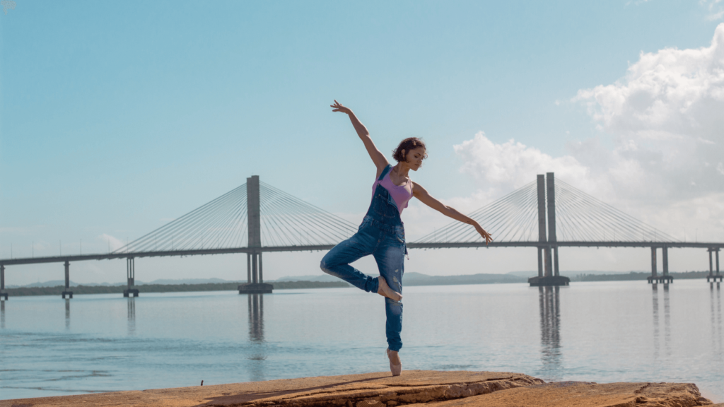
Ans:
[[[246,253],[246,284],[239,285],[240,294],[270,294],[274,288],[264,282],[261,269],[261,198],[259,196],[259,176],[246,179],[246,210],[249,231]]]

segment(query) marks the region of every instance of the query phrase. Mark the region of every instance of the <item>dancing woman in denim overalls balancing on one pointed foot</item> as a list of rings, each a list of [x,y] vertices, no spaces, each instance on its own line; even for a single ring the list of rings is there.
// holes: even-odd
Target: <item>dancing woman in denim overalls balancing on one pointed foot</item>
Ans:
[[[357,119],[348,107],[342,106],[336,100],[331,106],[332,112],[348,114],[357,135],[362,139],[372,162],[377,167],[376,182],[372,185],[372,202],[366,216],[355,235],[348,240],[334,246],[324,259],[321,260],[321,269],[327,274],[340,277],[357,288],[369,293],[378,293],[385,297],[384,308],[387,314],[387,358],[390,359],[392,376],[399,376],[402,372],[402,361],[398,352],[403,343],[400,339],[403,322],[403,272],[404,258],[407,254],[405,247],[405,229],[400,215],[408,206],[408,201],[415,197],[423,204],[440,211],[442,214],[473,225],[485,243],[492,241],[478,222],[466,217],[450,206],[430,196],[429,193],[410,180],[408,173],[412,169],[417,171],[426,158],[425,144],[418,138],[405,138],[395,151],[393,158],[397,165],[392,167],[384,155],[374,146],[367,128]],[[363,256],[373,255],[379,268],[380,277],[372,278],[358,269],[350,266],[355,260]]]

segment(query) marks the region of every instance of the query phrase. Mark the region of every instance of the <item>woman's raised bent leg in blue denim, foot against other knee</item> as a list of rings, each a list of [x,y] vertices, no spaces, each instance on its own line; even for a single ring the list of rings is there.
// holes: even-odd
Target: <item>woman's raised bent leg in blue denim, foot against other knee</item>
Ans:
[[[379,289],[379,282],[350,266],[350,263],[353,261],[371,254],[371,251],[367,247],[369,244],[366,244],[368,243],[366,240],[369,239],[366,239],[364,235],[358,232],[351,238],[334,246],[334,248],[321,259],[321,263],[319,264],[321,271],[334,277],[339,277],[354,285],[356,288],[365,290],[368,293],[376,293]]]

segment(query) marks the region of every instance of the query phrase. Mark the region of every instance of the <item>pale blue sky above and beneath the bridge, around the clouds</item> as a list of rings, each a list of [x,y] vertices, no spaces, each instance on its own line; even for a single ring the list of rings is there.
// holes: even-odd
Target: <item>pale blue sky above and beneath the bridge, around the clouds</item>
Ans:
[[[643,66],[643,55],[709,47],[723,21],[720,3],[712,1],[16,3],[0,14],[0,258],[10,256],[11,244],[15,257],[30,256],[32,247],[36,256],[59,246],[75,252],[81,241],[85,253],[106,251],[101,235],[138,238],[252,174],[353,220],[369,203],[374,166],[348,119],[330,111],[334,98],[355,110],[385,153],[401,138],[424,138],[429,160],[413,180],[463,210],[522,182],[518,175],[492,179],[476,172],[474,163],[488,162],[486,156],[454,148],[484,132],[500,151],[514,139],[552,163],[572,157],[592,174],[580,180],[582,188],[607,193],[598,197],[675,234],[681,225],[660,219],[679,216],[671,214],[690,209],[690,202],[675,194],[647,200],[626,188],[609,190],[613,178],[595,176],[618,174],[592,162],[607,153],[622,156],[622,140],[643,130],[616,124],[625,117],[597,117],[610,110],[607,99],[581,91],[633,86],[626,78],[632,66]],[[721,106],[717,97],[715,107]],[[707,134],[701,137],[720,148],[720,133]],[[593,144],[604,153],[586,150]],[[692,166],[702,161],[696,154]],[[689,196],[704,200],[696,213],[710,213],[697,218],[701,232],[690,227],[724,238],[720,226],[705,230],[719,213],[710,203],[724,192],[717,187],[724,185],[717,162],[710,167],[710,187]],[[547,168],[510,171],[534,180]],[[560,171],[567,168],[577,167]],[[696,171],[691,177],[704,177]],[[641,175],[644,185],[654,185],[649,175],[656,176]],[[664,182],[657,190],[675,190],[666,180],[656,182]],[[417,225],[411,239],[447,223],[419,208],[409,217]],[[434,266],[414,271],[536,266],[532,252],[500,251],[481,260],[463,251],[426,253],[420,257]],[[580,261],[562,267],[647,267],[644,251],[607,252],[589,267],[586,253],[571,253]],[[270,255],[265,264],[270,278],[311,274],[319,272],[318,257]],[[138,279],[189,277],[199,267],[216,270],[209,277],[236,278],[234,256],[210,259],[154,260]],[[672,267],[704,267],[704,254],[691,259],[672,259]],[[454,267],[443,267],[450,261]],[[468,266],[478,261],[490,267]],[[121,281],[125,264],[116,263],[74,265],[72,278]],[[310,267],[291,267],[300,263]],[[62,276],[60,265],[14,269],[8,284]]]

